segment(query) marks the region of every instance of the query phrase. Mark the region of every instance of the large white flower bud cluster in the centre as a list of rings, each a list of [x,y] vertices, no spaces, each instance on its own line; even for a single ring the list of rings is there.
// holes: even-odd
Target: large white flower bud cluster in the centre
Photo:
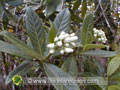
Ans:
[[[68,34],[61,32],[58,37],[54,38],[54,43],[47,45],[50,48],[49,53],[54,53],[56,49],[59,49],[61,54],[72,53],[74,51],[73,47],[76,45],[74,41],[77,39],[78,37],[75,36],[75,33]]]

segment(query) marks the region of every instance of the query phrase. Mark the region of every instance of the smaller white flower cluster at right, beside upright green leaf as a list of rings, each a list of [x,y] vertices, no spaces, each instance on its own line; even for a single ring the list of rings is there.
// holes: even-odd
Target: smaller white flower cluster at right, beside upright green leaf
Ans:
[[[105,33],[102,30],[98,30],[98,29],[94,28],[93,31],[94,31],[94,37],[98,38],[98,41],[100,41],[102,43],[106,43],[107,38],[105,36]]]

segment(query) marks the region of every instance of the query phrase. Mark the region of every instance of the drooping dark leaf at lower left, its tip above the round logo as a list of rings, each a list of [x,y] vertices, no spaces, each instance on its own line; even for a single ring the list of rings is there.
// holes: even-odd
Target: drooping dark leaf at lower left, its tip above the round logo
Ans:
[[[5,84],[9,84],[12,81],[12,78],[14,75],[21,75],[24,76],[26,73],[31,69],[31,67],[34,65],[34,62],[24,61],[21,65],[19,65],[17,68],[15,68],[12,72],[9,73],[5,80]]]

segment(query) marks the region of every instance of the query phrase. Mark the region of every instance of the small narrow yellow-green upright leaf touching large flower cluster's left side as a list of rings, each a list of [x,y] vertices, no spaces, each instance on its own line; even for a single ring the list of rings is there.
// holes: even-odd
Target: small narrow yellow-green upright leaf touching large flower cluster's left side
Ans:
[[[55,37],[56,37],[56,29],[54,24],[51,22],[51,29],[49,32],[49,43],[53,43]]]

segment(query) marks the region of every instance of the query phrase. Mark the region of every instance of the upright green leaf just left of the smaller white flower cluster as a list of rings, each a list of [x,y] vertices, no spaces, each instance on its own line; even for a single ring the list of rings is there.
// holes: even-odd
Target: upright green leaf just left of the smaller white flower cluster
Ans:
[[[85,15],[81,31],[81,39],[83,45],[92,43],[93,21],[94,21],[93,13],[92,12],[87,13]]]

